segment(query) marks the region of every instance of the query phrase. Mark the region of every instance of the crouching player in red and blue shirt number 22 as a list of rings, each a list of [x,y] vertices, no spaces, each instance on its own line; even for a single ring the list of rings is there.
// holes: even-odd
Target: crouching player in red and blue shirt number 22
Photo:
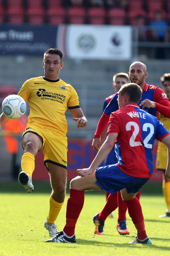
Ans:
[[[152,147],[155,138],[168,146],[166,175],[170,176],[170,134],[155,116],[138,107],[140,98],[141,88],[137,84],[121,87],[118,95],[120,109],[110,115],[106,141],[89,168],[78,169],[79,176],[70,182],[66,226],[47,243],[75,243],[75,226],[83,208],[84,191],[101,189],[112,194],[121,190],[137,229],[137,238],[130,243],[152,243],[146,234],[141,205],[135,195],[152,176]],[[118,163],[98,168],[114,146],[115,140]],[[112,203],[115,210],[117,204]],[[102,221],[98,221],[98,216],[94,221],[98,222],[100,228],[104,226]]]

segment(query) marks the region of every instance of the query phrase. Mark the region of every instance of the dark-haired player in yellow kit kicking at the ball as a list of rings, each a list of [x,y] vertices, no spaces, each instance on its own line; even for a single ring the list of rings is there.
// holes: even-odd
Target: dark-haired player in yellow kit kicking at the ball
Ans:
[[[50,173],[52,194],[49,215],[44,227],[50,236],[58,232],[55,221],[64,204],[67,182],[67,121],[65,112],[69,108],[78,127],[84,127],[87,119],[80,108],[75,89],[59,79],[63,68],[63,53],[56,48],[44,53],[42,62],[44,77],[27,80],[18,95],[29,102],[29,123],[22,136],[24,154],[21,159],[22,172],[19,182],[25,190],[32,192],[32,173],[35,169],[35,155],[42,149],[44,165]],[[0,126],[9,121],[2,113]]]

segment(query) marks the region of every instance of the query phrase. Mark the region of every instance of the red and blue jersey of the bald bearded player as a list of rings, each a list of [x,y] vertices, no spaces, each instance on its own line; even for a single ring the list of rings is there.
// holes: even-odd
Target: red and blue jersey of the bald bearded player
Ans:
[[[118,93],[115,94],[115,96],[110,100],[109,105],[107,105],[107,107],[104,109],[104,113],[107,116],[110,116],[110,113],[118,110],[117,98]],[[140,102],[138,102],[138,105],[140,105],[141,101],[143,101],[144,99],[149,99],[150,101],[155,102],[155,108],[144,108],[146,112],[157,117],[158,113],[160,112],[162,115],[170,118],[169,100],[165,92],[160,87],[155,87],[154,85],[148,85],[144,83],[141,100]],[[140,108],[142,107],[143,106],[141,106]]]

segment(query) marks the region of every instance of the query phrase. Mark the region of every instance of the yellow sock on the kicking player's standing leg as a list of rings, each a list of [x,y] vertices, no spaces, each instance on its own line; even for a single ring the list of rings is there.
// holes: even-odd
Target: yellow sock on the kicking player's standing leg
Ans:
[[[56,221],[56,218],[58,217],[63,204],[64,202],[58,203],[52,198],[52,196],[50,196],[50,210],[47,222],[54,223]]]

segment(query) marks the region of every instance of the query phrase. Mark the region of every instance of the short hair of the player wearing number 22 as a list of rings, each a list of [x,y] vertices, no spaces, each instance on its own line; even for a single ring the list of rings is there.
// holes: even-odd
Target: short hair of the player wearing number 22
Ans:
[[[135,83],[129,83],[123,85],[118,93],[121,93],[121,96],[127,94],[129,96],[129,102],[138,104],[141,99],[142,90],[139,85]]]

